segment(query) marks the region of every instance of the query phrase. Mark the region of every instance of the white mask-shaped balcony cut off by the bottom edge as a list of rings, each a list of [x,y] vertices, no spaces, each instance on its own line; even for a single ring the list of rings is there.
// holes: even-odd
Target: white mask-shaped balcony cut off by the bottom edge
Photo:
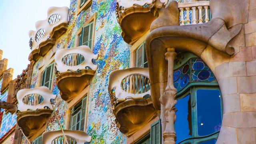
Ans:
[[[84,144],[90,142],[92,137],[80,130],[63,130],[69,144]],[[65,144],[64,135],[61,130],[44,132],[43,144]]]

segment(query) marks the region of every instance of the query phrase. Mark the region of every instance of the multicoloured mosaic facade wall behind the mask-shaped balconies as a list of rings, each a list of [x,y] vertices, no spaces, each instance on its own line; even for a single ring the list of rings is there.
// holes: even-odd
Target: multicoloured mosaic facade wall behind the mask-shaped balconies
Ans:
[[[90,95],[88,106],[87,133],[92,136],[90,144],[123,144],[126,137],[118,130],[114,123],[110,97],[108,94],[108,77],[110,72],[116,69],[126,69],[129,66],[130,48],[121,36],[121,29],[116,20],[116,1],[93,0],[92,6],[76,15],[77,0],[71,0],[69,12],[69,27],[64,36],[56,42],[56,48],[75,47],[76,32],[82,25],[96,13],[96,26],[94,35],[93,53],[98,54],[96,64],[98,69],[90,83]],[[31,88],[37,86],[38,66],[40,60],[34,66]],[[55,84],[52,87],[53,94],[57,94],[56,111],[64,128],[66,103],[60,98],[59,90]],[[59,130],[54,114],[47,124],[47,131]]]

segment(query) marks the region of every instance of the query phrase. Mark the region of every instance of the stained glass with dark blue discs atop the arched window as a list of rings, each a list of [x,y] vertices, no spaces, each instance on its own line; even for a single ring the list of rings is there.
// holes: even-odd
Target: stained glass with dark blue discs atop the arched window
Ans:
[[[177,91],[182,90],[191,82],[212,82],[214,80],[212,71],[200,58],[188,60],[183,66],[174,70],[173,74],[174,87]]]

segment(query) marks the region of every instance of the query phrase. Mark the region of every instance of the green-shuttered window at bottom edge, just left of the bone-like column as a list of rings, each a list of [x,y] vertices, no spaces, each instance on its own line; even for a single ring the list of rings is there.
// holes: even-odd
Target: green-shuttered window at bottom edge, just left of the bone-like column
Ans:
[[[162,136],[160,120],[151,124],[150,127],[150,133],[138,140],[135,144],[161,144]]]

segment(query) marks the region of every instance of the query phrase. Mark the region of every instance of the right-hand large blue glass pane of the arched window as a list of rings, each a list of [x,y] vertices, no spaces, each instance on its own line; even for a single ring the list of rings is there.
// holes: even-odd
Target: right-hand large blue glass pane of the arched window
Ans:
[[[220,130],[220,90],[196,90],[198,135],[206,136]]]

